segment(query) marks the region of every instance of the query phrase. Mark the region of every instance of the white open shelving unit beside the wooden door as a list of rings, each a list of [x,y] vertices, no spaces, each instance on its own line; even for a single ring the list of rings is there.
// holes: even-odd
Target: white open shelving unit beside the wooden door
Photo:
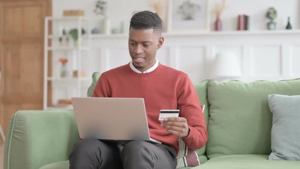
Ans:
[[[49,34],[48,25],[52,22],[52,34]],[[77,42],[74,42],[71,37],[69,37],[70,44],[62,46],[59,43],[59,38],[62,33],[62,27],[76,28],[78,31],[78,39]],[[85,29],[85,35],[81,35],[81,30]],[[68,29],[65,29],[67,32]],[[48,81],[52,81],[52,85],[55,84],[68,84],[75,86],[76,92],[72,92],[69,94],[67,99],[71,99],[71,97],[81,97],[82,93],[82,82],[88,82],[91,80],[89,77],[90,72],[86,71],[86,76],[81,77],[82,69],[82,61],[88,60],[91,62],[91,57],[89,57],[89,50],[91,49],[91,34],[90,34],[90,21],[89,18],[86,17],[46,17],[45,18],[45,37],[44,37],[44,99],[43,99],[43,109],[72,109],[72,105],[58,105],[53,103],[54,106],[48,105]],[[68,34],[68,33],[67,33]],[[51,41],[51,46],[49,46],[49,41]],[[73,42],[73,44],[71,43]],[[84,42],[84,43],[83,43]],[[52,51],[52,76],[48,76],[48,53]],[[72,52],[72,56],[70,57],[70,53]],[[82,52],[86,52],[87,54],[83,55]],[[74,54],[76,53],[76,54]],[[58,69],[58,58],[67,58],[68,59],[68,77],[61,77],[59,75]],[[70,64],[72,66],[70,66]],[[74,65],[76,65],[76,69],[74,69]],[[73,71],[77,70],[77,77],[74,77]],[[67,86],[66,86],[67,88]],[[53,88],[52,88],[53,89]],[[52,90],[52,96],[54,95]],[[53,98],[52,98],[53,99]],[[63,98],[66,99],[66,98]]]

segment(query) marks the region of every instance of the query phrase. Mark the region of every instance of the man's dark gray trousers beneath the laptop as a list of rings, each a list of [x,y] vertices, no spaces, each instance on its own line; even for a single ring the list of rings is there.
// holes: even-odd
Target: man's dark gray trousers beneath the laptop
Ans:
[[[174,148],[145,141],[81,139],[70,155],[70,169],[174,169]]]

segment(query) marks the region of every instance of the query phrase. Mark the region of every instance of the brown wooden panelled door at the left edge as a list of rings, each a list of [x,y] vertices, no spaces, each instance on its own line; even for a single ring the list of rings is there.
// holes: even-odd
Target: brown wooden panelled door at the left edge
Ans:
[[[17,110],[43,108],[44,18],[51,0],[0,0],[0,124]]]

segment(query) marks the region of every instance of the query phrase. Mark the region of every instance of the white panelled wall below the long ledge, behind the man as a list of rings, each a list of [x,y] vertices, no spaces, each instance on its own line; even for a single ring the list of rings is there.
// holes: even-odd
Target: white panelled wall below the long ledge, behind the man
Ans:
[[[157,58],[163,65],[188,73],[195,82],[215,78],[211,75],[213,62],[217,53],[224,52],[236,56],[242,71],[239,80],[293,79],[300,77],[299,38],[300,31],[165,34],[167,40],[158,50]],[[89,66],[104,72],[127,64],[130,61],[127,39],[126,35],[94,37],[91,46],[99,60]]]

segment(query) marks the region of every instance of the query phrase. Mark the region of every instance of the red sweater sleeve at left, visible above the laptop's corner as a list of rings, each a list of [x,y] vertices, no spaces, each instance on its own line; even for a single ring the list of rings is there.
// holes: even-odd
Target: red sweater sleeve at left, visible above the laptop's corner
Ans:
[[[101,74],[101,76],[97,81],[92,97],[109,97],[109,96],[110,93],[108,89],[107,78],[105,77],[105,73],[103,73]]]

